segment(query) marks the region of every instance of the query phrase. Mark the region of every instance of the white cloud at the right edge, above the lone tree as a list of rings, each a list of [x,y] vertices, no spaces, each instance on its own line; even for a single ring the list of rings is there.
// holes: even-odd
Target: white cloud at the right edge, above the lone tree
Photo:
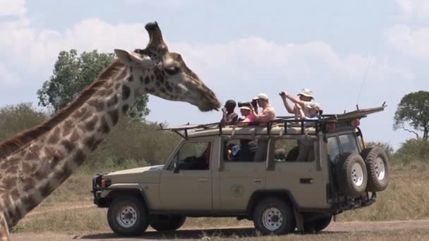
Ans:
[[[429,27],[412,30],[404,24],[386,30],[387,42],[407,56],[429,58]]]

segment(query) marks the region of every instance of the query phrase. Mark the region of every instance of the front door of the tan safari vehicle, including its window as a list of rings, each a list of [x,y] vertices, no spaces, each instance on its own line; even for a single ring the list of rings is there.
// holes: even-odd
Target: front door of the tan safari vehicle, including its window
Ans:
[[[187,141],[161,172],[162,209],[212,209],[211,141]]]

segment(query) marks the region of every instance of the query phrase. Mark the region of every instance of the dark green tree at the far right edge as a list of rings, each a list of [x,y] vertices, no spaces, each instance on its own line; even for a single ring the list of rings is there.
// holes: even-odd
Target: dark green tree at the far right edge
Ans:
[[[398,109],[394,113],[393,128],[394,130],[404,129],[416,135],[417,139],[428,140],[429,92],[412,92],[402,97]],[[418,132],[423,132],[422,137],[418,135]]]

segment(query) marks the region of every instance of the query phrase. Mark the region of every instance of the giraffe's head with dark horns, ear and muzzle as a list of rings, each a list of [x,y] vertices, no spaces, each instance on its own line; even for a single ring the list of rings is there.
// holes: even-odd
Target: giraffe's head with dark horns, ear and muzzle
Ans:
[[[115,49],[129,68],[137,94],[153,94],[162,99],[185,101],[200,111],[218,110],[219,100],[198,75],[186,66],[180,54],[169,52],[157,22],[147,23],[149,43],[145,49]]]

